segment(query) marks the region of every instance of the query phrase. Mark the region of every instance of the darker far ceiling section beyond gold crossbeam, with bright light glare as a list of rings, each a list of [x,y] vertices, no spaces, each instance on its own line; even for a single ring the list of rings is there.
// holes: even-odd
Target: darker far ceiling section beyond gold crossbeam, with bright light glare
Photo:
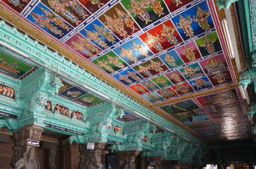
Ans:
[[[160,108],[210,141],[248,138],[249,121],[237,92],[222,91]]]

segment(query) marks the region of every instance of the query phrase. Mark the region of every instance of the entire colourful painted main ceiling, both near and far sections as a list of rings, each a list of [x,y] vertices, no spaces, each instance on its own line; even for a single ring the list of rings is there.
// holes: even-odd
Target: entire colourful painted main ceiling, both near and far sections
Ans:
[[[214,1],[2,0],[0,6],[30,25],[24,32],[40,31],[61,46],[57,52],[75,53],[96,73],[88,71],[201,137],[248,135],[249,127],[229,128],[238,117],[248,123],[238,89],[198,97],[237,83]],[[85,106],[102,102],[66,82],[59,95]]]

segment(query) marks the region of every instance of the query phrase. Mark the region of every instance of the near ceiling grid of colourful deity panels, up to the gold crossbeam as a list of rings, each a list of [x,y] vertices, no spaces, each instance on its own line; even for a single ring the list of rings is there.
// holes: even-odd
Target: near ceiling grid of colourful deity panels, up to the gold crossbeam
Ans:
[[[234,82],[210,3],[1,2],[149,103]],[[85,105],[90,97],[60,95]]]

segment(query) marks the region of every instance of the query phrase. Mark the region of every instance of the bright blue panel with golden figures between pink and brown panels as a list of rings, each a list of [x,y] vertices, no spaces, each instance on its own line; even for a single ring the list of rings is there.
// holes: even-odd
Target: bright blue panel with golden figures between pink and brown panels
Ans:
[[[102,50],[113,46],[119,40],[98,20],[86,25],[80,32],[84,37]]]

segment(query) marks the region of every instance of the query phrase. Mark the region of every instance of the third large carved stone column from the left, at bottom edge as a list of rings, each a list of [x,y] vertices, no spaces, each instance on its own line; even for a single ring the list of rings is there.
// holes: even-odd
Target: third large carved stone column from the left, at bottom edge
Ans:
[[[117,169],[135,169],[135,158],[139,155],[138,150],[117,152]]]

